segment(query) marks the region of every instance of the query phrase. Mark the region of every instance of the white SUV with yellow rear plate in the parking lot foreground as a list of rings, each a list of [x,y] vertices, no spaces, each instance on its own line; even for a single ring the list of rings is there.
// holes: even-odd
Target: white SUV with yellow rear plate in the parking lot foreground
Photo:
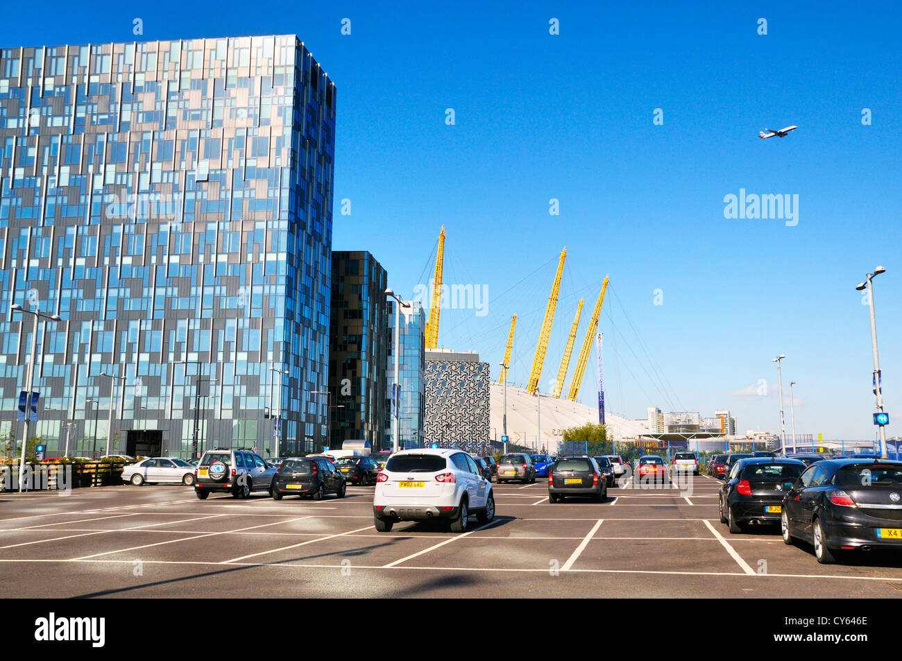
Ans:
[[[376,479],[373,519],[388,532],[397,521],[447,519],[464,532],[472,516],[495,518],[492,482],[462,450],[401,450],[389,457]]]

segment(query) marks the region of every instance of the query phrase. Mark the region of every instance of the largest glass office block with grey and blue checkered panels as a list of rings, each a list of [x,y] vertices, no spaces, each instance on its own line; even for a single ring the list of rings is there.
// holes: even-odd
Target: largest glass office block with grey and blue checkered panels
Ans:
[[[36,342],[51,456],[317,450],[335,115],[294,35],[0,49],[5,426]]]

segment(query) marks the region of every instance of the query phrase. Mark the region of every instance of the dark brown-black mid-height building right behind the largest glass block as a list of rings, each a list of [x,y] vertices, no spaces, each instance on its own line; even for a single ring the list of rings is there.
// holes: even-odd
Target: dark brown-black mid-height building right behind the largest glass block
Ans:
[[[329,442],[367,440],[380,449],[389,416],[385,288],[388,273],[364,251],[332,253]]]

